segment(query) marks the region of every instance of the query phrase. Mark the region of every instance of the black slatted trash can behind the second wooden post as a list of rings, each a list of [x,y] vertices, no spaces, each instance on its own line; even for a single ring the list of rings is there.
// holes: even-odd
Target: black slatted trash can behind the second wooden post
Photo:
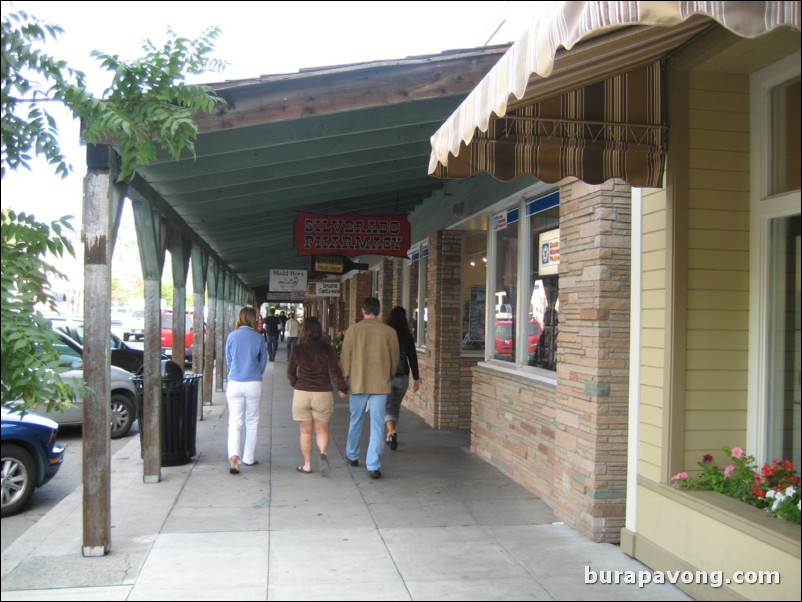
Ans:
[[[192,461],[198,419],[198,391],[202,374],[184,374],[177,363],[162,360],[161,444],[162,466],[180,466]],[[139,442],[143,446],[142,408],[144,406],[144,376],[132,377],[137,391]],[[144,449],[143,449],[144,454]]]

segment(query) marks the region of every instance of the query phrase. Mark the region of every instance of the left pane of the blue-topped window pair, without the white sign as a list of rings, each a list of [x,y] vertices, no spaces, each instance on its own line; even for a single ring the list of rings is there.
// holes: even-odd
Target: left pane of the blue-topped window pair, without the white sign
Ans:
[[[515,361],[516,298],[518,294],[518,208],[493,216],[496,233],[496,254],[493,270],[493,290],[488,302],[493,302],[493,355],[506,362]]]

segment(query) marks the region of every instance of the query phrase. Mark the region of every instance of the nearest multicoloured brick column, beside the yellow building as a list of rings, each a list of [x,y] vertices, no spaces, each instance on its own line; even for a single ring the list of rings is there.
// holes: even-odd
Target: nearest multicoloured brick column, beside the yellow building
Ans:
[[[595,541],[624,526],[629,382],[630,188],[560,190],[554,505]]]

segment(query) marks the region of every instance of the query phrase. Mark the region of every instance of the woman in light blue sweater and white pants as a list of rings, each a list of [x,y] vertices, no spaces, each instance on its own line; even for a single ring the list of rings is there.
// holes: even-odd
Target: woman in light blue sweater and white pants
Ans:
[[[254,453],[267,349],[264,338],[256,332],[257,319],[255,309],[243,307],[237,316],[234,330],[226,339],[228,460],[231,474],[239,474],[240,459],[246,466],[258,463]]]

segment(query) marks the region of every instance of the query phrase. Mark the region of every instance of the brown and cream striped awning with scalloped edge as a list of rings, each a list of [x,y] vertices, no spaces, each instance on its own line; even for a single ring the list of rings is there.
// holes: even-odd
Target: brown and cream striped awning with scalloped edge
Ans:
[[[553,3],[432,136],[429,173],[661,186],[662,61],[716,23],[799,28],[800,2]]]

